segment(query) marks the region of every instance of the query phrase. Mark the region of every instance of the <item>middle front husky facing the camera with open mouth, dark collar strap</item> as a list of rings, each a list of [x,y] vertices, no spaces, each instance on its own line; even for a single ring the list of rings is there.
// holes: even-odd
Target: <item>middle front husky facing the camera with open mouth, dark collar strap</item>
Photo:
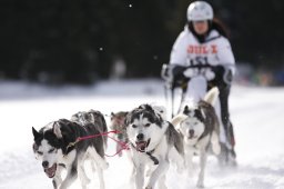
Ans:
[[[125,126],[131,146],[134,188],[153,189],[156,182],[159,188],[166,188],[170,150],[174,148],[179,155],[184,155],[181,136],[172,123],[163,119],[161,111],[150,105],[142,105],[129,112]],[[146,173],[149,179],[144,183],[145,166],[151,168],[151,172]]]

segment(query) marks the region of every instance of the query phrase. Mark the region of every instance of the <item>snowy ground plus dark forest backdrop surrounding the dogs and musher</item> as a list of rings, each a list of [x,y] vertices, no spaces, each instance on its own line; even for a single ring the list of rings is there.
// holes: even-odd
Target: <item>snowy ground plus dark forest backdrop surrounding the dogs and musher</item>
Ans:
[[[141,103],[165,106],[160,71],[183,30],[190,2],[1,0],[0,189],[52,188],[34,159],[31,127],[39,130],[89,109],[105,115],[109,126],[111,112]],[[210,157],[205,187],[283,189],[284,1],[209,2],[226,24],[236,58],[230,113],[237,167],[221,168]],[[109,140],[108,155],[114,152]],[[106,161],[106,189],[129,189],[126,156]],[[97,175],[88,176],[90,188],[98,188]],[[197,173],[190,178],[170,168],[166,185],[195,188],[196,179]],[[80,188],[78,180],[72,188]]]

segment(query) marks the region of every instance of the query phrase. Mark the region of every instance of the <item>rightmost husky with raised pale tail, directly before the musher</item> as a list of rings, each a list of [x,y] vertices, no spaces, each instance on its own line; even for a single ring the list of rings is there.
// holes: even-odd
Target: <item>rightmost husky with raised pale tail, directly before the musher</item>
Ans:
[[[183,108],[183,113],[173,118],[172,123],[180,130],[184,141],[185,163],[189,173],[193,169],[192,158],[200,155],[200,173],[197,187],[204,187],[204,169],[209,148],[215,155],[221,151],[219,141],[219,119],[213,108],[219,96],[217,88],[211,89],[204,100],[197,105]],[[212,145],[212,146],[210,146]]]

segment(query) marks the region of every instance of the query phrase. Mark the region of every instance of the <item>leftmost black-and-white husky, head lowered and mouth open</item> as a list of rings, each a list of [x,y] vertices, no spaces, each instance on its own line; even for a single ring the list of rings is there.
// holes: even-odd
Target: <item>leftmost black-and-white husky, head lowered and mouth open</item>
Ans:
[[[93,123],[81,126],[77,122],[60,119],[50,122],[37,131],[33,151],[36,159],[41,160],[42,168],[49,178],[52,178],[54,189],[65,189],[79,177],[82,188],[87,188],[90,179],[84,171],[84,161],[91,160],[98,170],[100,188],[104,189],[102,170],[108,168],[104,160],[103,138],[77,141],[79,137],[99,135]],[[67,169],[67,177],[61,179],[61,170]]]

